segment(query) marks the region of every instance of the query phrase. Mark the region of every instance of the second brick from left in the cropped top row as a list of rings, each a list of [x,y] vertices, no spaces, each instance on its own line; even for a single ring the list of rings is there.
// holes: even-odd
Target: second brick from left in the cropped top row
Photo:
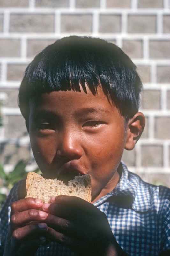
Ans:
[[[36,7],[69,7],[69,0],[35,0]]]

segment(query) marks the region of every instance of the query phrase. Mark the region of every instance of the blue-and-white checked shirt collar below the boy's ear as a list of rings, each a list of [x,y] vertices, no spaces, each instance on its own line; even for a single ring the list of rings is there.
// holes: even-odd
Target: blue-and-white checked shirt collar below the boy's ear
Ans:
[[[119,183],[106,196],[94,203],[95,206],[105,201],[114,201],[122,207],[130,207],[134,211],[147,212],[151,208],[149,186],[141,178],[129,172],[127,166],[121,162],[118,168],[121,175]]]

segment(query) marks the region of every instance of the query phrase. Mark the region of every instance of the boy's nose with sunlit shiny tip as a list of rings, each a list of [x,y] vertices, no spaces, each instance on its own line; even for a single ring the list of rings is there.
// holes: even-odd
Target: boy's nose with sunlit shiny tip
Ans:
[[[67,161],[80,159],[82,156],[82,148],[80,143],[81,136],[75,131],[75,129],[68,130],[60,134],[57,147],[57,157],[66,158]]]

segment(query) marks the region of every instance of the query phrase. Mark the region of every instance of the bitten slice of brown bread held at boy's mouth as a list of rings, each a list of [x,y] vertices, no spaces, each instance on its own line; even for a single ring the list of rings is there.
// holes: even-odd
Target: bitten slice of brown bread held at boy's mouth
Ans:
[[[26,197],[39,198],[49,203],[52,196],[77,196],[91,202],[91,178],[89,174],[76,176],[66,185],[57,179],[45,179],[35,172],[29,172],[26,179]]]

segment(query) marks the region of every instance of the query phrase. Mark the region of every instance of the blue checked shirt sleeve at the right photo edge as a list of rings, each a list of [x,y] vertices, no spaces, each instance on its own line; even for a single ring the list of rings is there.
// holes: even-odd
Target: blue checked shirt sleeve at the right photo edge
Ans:
[[[170,250],[170,189],[161,186],[160,198],[160,225],[161,225],[161,252]]]

